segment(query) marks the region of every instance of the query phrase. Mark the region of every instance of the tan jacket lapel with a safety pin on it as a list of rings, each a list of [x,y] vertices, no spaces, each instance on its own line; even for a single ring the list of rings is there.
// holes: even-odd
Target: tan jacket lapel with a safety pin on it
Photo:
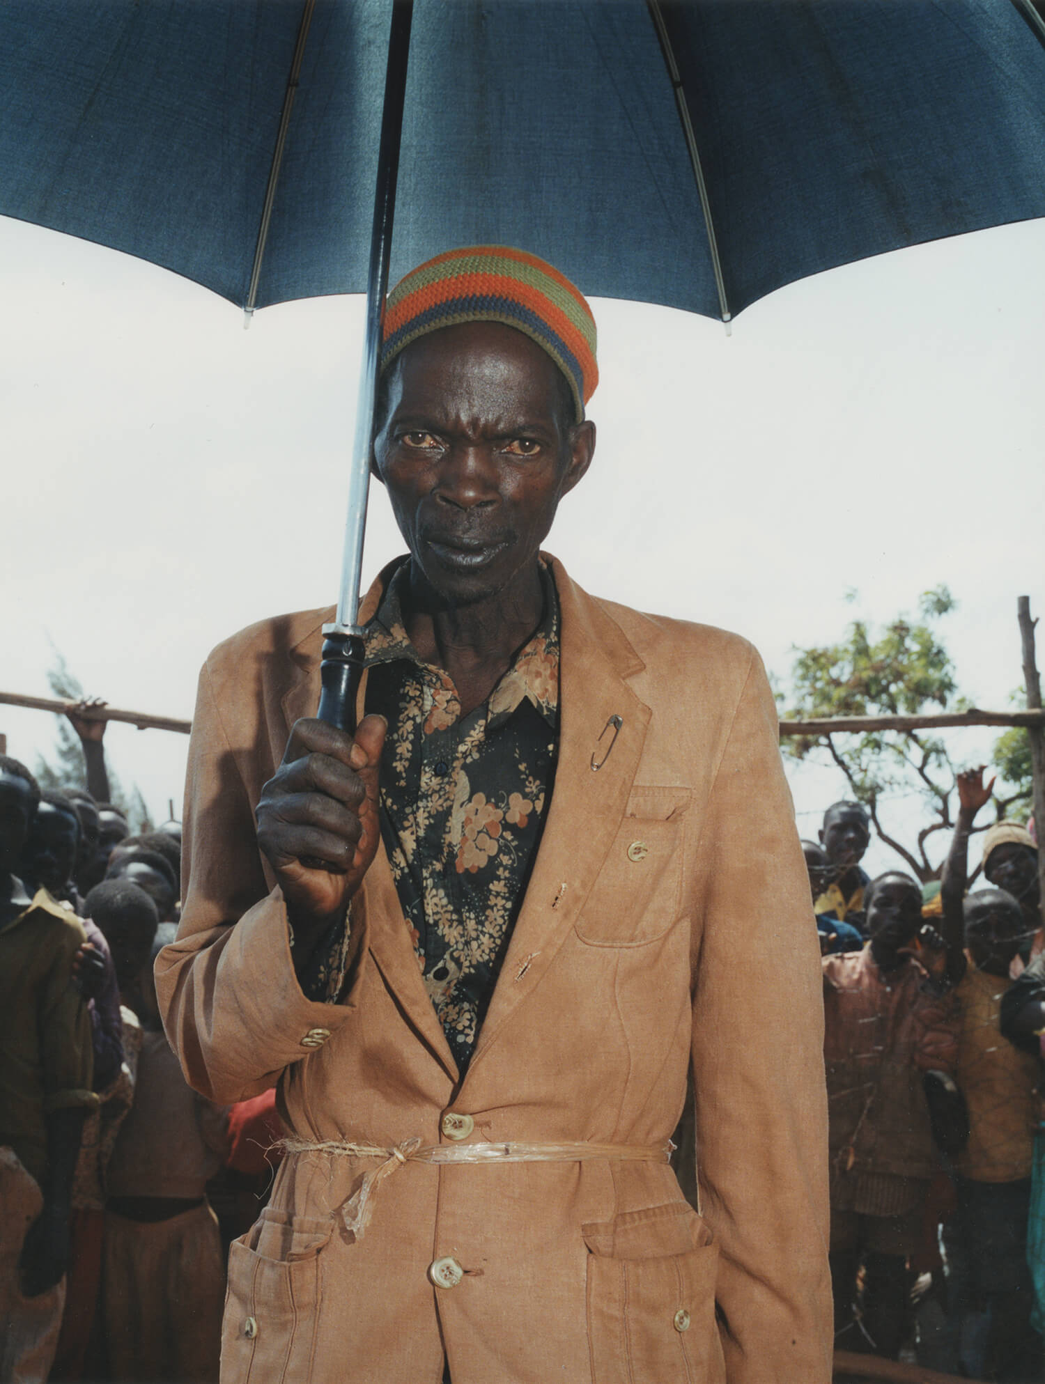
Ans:
[[[624,817],[651,717],[624,681],[641,671],[642,660],[620,627],[551,562],[562,614],[555,787],[469,1071],[540,984],[577,920]]]

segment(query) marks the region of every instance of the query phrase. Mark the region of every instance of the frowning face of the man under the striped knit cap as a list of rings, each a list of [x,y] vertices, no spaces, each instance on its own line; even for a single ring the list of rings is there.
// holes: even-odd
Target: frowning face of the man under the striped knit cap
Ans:
[[[594,426],[567,422],[551,358],[500,322],[414,342],[385,392],[374,459],[415,569],[448,605],[502,591],[587,471]]]

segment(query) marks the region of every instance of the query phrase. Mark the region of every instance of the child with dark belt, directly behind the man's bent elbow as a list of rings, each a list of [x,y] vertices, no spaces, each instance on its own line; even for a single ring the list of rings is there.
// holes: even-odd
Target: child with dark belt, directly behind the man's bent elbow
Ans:
[[[134,912],[130,891],[147,900],[151,915]],[[227,1111],[185,1085],[161,1026],[152,962],[174,940],[174,926],[156,927],[152,901],[126,880],[100,884],[90,904],[102,931],[109,925],[113,956],[125,963],[123,999],[143,1028],[134,1104],[107,1171],[102,1295],[109,1369],[120,1381],[212,1384],[226,1268],[205,1189],[226,1153]],[[134,960],[140,963],[131,977]]]

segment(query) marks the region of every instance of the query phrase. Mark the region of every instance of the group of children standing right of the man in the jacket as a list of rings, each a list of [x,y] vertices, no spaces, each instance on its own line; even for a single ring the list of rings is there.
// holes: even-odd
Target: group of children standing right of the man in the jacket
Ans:
[[[857,803],[830,807],[819,844],[804,843],[824,966],[836,1344],[1030,1384],[1045,1363],[1038,853],[1027,828],[991,826],[970,891],[983,770],[959,775],[958,796],[936,898],[905,873],[868,879]]]

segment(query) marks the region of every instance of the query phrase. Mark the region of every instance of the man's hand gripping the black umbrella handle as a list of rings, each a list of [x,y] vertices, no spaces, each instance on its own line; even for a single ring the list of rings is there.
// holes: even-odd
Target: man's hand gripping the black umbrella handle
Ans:
[[[325,721],[296,721],[282,764],[262,789],[257,844],[275,871],[291,922],[311,933],[343,916],[378,848],[383,716],[354,738]],[[307,940],[306,940],[307,945]]]

